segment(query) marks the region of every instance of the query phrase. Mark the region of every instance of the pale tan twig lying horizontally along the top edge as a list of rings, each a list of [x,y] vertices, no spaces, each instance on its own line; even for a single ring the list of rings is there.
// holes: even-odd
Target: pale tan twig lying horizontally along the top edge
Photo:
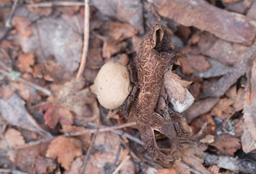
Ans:
[[[35,4],[28,4],[28,8],[38,8],[38,7],[53,7],[53,6],[84,6],[84,2],[78,1],[52,1],[52,2],[44,2],[44,3],[35,3]]]

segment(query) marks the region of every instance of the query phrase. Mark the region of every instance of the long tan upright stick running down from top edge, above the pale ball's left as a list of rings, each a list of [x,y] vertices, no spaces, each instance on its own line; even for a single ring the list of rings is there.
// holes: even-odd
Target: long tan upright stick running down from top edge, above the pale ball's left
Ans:
[[[83,47],[81,62],[80,62],[80,66],[79,66],[76,78],[80,78],[81,74],[84,71],[84,66],[86,63],[86,57],[88,52],[89,34],[90,34],[90,6],[88,1],[89,0],[84,1],[84,47]]]

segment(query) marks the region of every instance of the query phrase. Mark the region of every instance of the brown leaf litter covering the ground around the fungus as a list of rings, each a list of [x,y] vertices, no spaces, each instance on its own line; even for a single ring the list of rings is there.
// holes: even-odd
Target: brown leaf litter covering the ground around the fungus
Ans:
[[[92,1],[87,61],[77,79],[83,4],[34,3],[20,1],[13,16],[13,3],[0,3],[0,171],[255,173],[255,1]],[[10,17],[12,28],[4,27]],[[132,62],[148,54],[140,49],[151,47],[143,41],[150,31],[157,56],[168,59],[176,48],[186,58],[174,56],[152,91],[157,102],[145,103],[156,118],[138,122],[140,72],[147,78],[150,68]],[[134,83],[126,103],[111,111],[90,91],[109,61],[127,66]],[[137,126],[125,126],[136,119]],[[150,129],[141,129],[147,122]],[[97,133],[100,126],[107,131]],[[161,163],[168,160],[173,164]]]

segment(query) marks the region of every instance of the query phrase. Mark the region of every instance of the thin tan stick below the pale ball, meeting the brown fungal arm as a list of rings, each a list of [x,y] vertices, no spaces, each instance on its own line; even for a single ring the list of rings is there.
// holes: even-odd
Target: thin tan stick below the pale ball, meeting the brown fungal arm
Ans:
[[[98,131],[99,131],[99,133],[106,132],[106,131],[113,131],[115,129],[122,129],[124,127],[131,127],[131,126],[135,126],[135,125],[136,125],[136,122],[128,122],[128,123],[120,124],[120,125],[116,125],[116,126],[100,128]],[[67,133],[67,136],[78,136],[78,135],[82,135],[82,134],[96,133],[96,131],[97,131],[97,129],[86,129],[84,131]]]

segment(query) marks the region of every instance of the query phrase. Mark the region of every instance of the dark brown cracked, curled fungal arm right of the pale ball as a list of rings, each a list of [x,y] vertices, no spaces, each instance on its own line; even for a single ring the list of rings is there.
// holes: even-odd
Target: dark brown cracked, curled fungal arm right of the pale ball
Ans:
[[[161,89],[163,89],[164,73],[172,68],[179,53],[173,50],[171,32],[163,25],[156,24],[141,43],[134,66],[138,76],[136,88],[138,98],[135,101],[135,117],[148,154],[161,164],[173,164],[178,159],[175,146],[183,147],[189,143],[188,134],[182,128],[179,119],[170,117],[166,120],[155,112]],[[163,99],[160,99],[164,102]],[[154,130],[159,131],[172,143],[172,148],[159,149],[154,137]]]

